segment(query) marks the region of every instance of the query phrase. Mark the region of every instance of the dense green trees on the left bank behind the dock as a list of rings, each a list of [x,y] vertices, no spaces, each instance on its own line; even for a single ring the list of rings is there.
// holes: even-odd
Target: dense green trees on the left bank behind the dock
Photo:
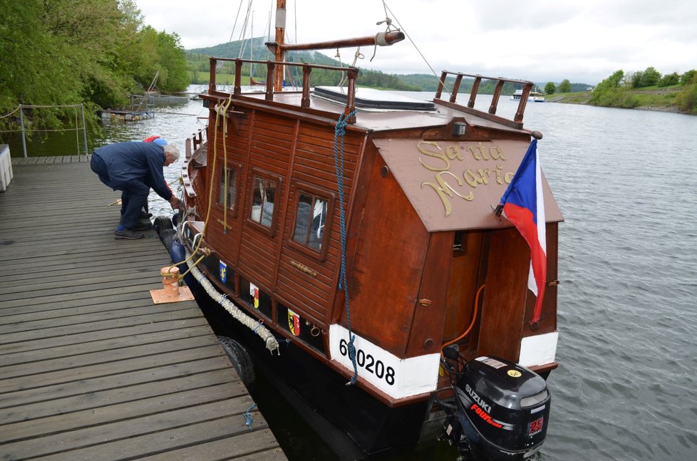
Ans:
[[[0,8],[0,109],[17,105],[123,105],[160,71],[160,89],[188,84],[176,34],[143,26],[133,0],[5,1]],[[26,127],[57,128],[73,109],[33,109]],[[0,118],[14,129],[17,116]]]

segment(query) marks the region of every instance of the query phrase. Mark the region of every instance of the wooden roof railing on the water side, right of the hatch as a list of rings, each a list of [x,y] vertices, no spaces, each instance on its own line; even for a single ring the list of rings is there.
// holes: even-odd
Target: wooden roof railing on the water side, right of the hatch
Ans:
[[[443,100],[440,96],[443,93],[443,88],[445,88],[445,78],[448,78],[448,76],[455,76],[455,82],[453,83],[453,89],[450,90],[450,98],[448,101]],[[472,84],[472,90],[470,90],[470,100],[468,100],[467,106],[460,105],[456,103],[455,101],[458,99],[458,90],[460,90],[460,83],[463,81],[463,77],[467,78],[473,78],[474,82]],[[527,104],[527,97],[530,95],[530,90],[532,89],[533,83],[531,81],[525,81],[525,80],[516,80],[514,78],[503,78],[503,77],[487,77],[487,76],[481,76],[480,74],[471,74],[471,73],[461,73],[461,72],[449,72],[449,71],[443,71],[443,73],[440,74],[440,81],[438,82],[438,90],[435,92],[435,96],[433,98],[434,103],[441,103],[443,105],[448,105],[450,107],[454,108],[459,108],[460,110],[465,110],[465,112],[482,112],[479,110],[475,110],[475,100],[477,99],[477,92],[479,91],[479,86],[480,83],[482,83],[482,80],[489,80],[489,81],[495,81],[496,86],[494,89],[494,94],[492,95],[491,98],[491,104],[489,105],[489,110],[488,114],[490,119],[495,119],[498,122],[505,123],[506,119],[500,118],[496,116],[496,108],[499,103],[499,98],[501,97],[501,91],[503,89],[503,86],[505,83],[513,83],[515,85],[522,85],[522,97],[520,98],[520,102],[518,103],[518,108],[515,112],[515,116],[513,117],[513,126],[516,128],[522,128],[522,120],[523,120],[523,115],[525,114],[525,105]]]

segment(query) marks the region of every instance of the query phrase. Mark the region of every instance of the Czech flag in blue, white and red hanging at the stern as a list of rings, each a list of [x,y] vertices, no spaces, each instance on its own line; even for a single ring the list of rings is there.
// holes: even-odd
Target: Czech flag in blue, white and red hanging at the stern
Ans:
[[[513,223],[530,246],[531,274],[527,285],[537,296],[531,324],[539,321],[542,312],[544,286],[547,284],[547,234],[544,220],[544,198],[542,197],[542,172],[537,157],[537,140],[532,140],[525,152],[515,176],[501,197],[497,214],[501,210]]]

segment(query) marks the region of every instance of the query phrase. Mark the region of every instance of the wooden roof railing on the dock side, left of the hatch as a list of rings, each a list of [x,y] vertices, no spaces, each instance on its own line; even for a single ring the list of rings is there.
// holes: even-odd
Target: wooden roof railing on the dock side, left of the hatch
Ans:
[[[320,64],[307,64],[307,63],[291,63],[291,62],[280,62],[280,61],[255,61],[253,59],[241,59],[241,58],[210,58],[210,83],[208,87],[208,94],[212,95],[217,93],[215,86],[215,74],[217,71],[217,65],[219,62],[232,62],[234,63],[234,83],[232,86],[233,95],[242,94],[242,66],[245,63],[261,64],[267,66],[267,78],[266,78],[266,90],[264,93],[264,99],[267,101],[274,100],[274,81],[275,73],[283,72],[283,66],[293,66],[302,68],[302,97],[300,100],[300,105],[302,108],[310,107],[310,81],[311,73],[314,69],[323,69],[326,71],[339,71],[346,72],[348,77],[348,83],[346,86],[346,108],[344,108],[344,116],[356,112],[356,78],[358,78],[358,68],[356,67],[339,67],[339,66],[323,66]],[[352,115],[348,120],[349,123],[356,123],[356,116]]]

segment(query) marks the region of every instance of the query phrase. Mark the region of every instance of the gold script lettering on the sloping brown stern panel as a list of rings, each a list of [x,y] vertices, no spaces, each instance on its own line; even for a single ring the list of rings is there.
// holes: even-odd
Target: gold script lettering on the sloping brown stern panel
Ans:
[[[477,187],[492,182],[497,185],[510,184],[515,174],[504,172],[500,162],[505,162],[507,158],[497,145],[487,148],[482,143],[467,147],[451,144],[443,149],[435,141],[420,141],[416,148],[420,152],[418,161],[421,166],[435,173],[434,181],[422,182],[421,188],[428,186],[438,195],[446,217],[453,212],[451,198],[460,197],[471,202],[475,200]],[[487,162],[487,165],[477,168],[473,162]]]

